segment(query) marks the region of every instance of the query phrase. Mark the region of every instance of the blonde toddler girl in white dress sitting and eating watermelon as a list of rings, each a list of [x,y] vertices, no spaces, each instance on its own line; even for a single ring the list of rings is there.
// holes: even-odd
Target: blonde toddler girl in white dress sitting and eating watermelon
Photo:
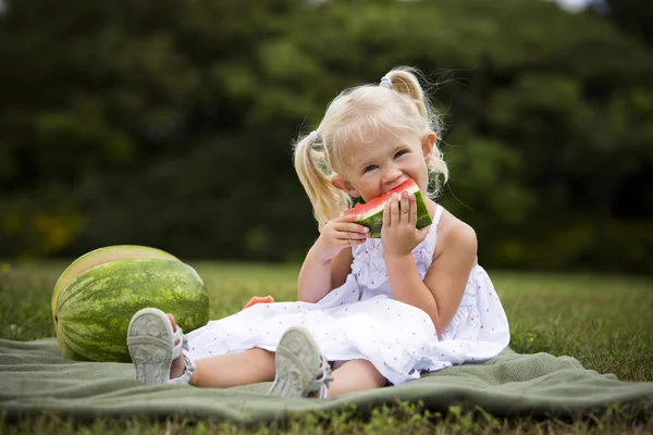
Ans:
[[[431,199],[447,177],[439,125],[409,69],[341,94],[295,146],[320,228],[299,301],[257,303],[186,337],[172,315],[141,310],[127,337],[137,377],[220,388],[274,381],[272,395],[325,398],[498,355],[508,322],[477,264],[476,234]],[[380,239],[343,214],[352,198],[369,201],[408,178],[429,194],[431,226],[416,229],[406,191],[385,206]]]

